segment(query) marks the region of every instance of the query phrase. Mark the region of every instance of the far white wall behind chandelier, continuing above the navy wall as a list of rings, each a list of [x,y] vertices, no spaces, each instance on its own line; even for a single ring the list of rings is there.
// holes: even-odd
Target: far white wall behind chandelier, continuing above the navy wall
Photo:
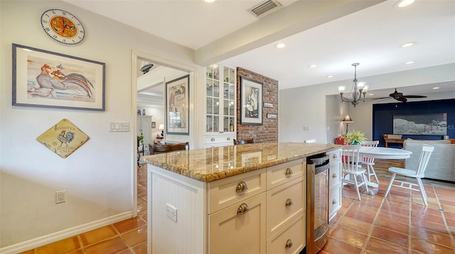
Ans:
[[[362,77],[361,79],[370,84],[370,91],[375,89],[375,84],[378,84],[377,87],[380,86],[380,89],[395,89],[419,84],[453,82],[455,80],[454,70],[455,64],[448,64]],[[349,87],[352,85],[352,80],[280,90],[279,141],[302,142],[305,139],[316,138],[320,143],[333,142],[333,138],[336,138],[338,133],[346,131],[346,125],[343,126],[341,123],[341,118],[346,114],[350,114],[354,120],[349,124],[349,129],[363,131],[365,136],[371,139],[373,107],[371,105],[362,106],[361,104],[364,102],[355,108],[346,102],[336,104],[333,96],[338,93],[340,85]],[[449,93],[446,96],[454,98],[455,94]],[[339,95],[336,97],[339,99]],[[368,105],[367,102],[365,104]],[[304,126],[310,126],[310,131],[304,131]],[[329,131],[327,131],[327,127],[329,127]],[[335,130],[338,133],[335,133]]]

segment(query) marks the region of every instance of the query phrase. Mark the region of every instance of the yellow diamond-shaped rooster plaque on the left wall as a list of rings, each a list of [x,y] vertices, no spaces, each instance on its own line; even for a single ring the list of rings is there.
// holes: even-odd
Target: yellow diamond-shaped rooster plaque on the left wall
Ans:
[[[36,140],[61,158],[67,158],[90,138],[67,119],[52,126]]]

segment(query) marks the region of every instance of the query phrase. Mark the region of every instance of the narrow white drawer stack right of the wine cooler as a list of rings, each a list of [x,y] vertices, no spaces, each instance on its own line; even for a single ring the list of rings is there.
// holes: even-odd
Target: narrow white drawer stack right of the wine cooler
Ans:
[[[327,152],[330,161],[328,170],[328,220],[336,216],[341,208],[342,175],[341,175],[341,149]]]

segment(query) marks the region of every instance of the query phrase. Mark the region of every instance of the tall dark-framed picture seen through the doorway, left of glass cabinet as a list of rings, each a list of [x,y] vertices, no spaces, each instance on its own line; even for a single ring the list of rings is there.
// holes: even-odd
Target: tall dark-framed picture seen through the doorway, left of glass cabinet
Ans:
[[[166,82],[166,133],[190,134],[190,74]]]

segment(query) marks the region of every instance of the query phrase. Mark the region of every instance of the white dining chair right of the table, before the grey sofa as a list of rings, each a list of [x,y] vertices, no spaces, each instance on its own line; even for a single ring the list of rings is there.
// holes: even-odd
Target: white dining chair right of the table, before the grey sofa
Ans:
[[[390,183],[389,186],[387,187],[387,190],[385,191],[384,197],[387,197],[392,186],[400,187],[403,189],[410,189],[413,191],[420,192],[420,195],[422,195],[422,199],[424,201],[425,206],[428,206],[427,193],[425,192],[424,185],[422,184],[422,178],[425,177],[424,172],[427,169],[427,164],[430,156],[433,153],[433,150],[434,146],[422,145],[422,152],[420,153],[419,156],[419,163],[417,164],[417,168],[406,169],[401,167],[389,167],[388,171],[392,173],[392,177],[390,178]],[[408,182],[406,180],[395,180],[395,177],[397,175],[401,175],[408,178],[415,178],[415,180],[417,180],[417,184],[415,184],[414,182]],[[393,184],[393,182],[397,182],[397,184]],[[419,187],[419,189],[414,189],[414,187]]]

